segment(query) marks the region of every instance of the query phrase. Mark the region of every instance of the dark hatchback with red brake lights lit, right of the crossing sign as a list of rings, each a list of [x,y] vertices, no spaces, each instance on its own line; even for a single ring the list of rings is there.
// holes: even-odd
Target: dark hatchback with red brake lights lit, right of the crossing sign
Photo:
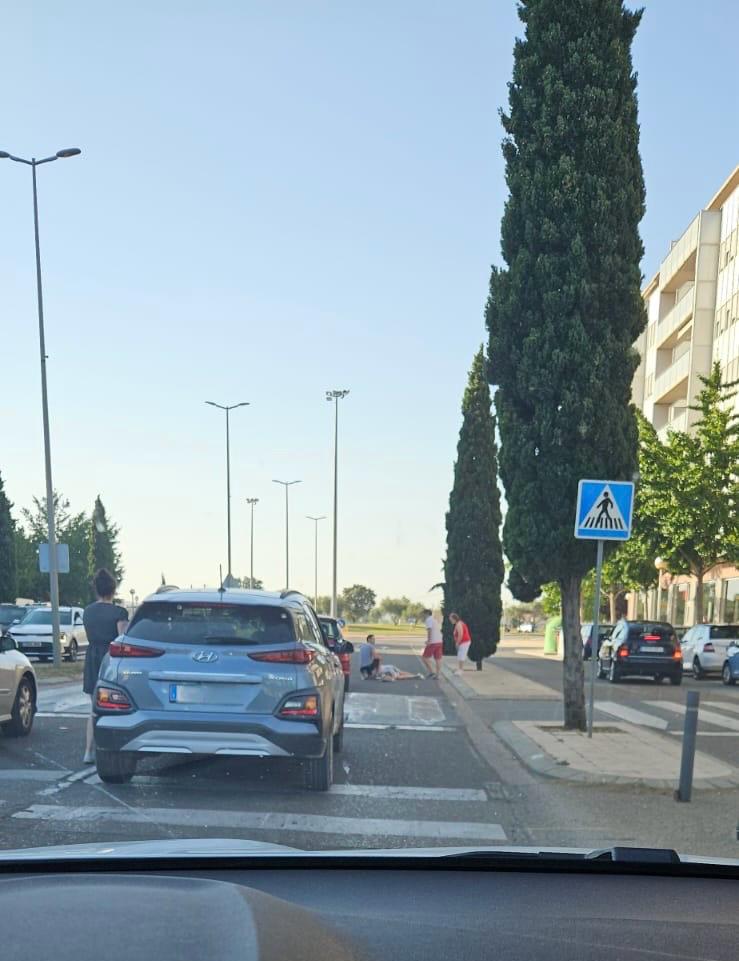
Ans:
[[[598,677],[615,684],[624,677],[652,677],[682,684],[683,661],[675,629],[664,621],[619,621],[603,641]]]

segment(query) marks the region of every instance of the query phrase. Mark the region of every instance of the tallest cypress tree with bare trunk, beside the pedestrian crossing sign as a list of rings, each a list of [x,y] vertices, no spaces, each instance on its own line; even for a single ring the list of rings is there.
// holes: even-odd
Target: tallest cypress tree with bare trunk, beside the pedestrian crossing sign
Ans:
[[[506,268],[487,304],[506,556],[517,581],[557,580],[565,724],[585,725],[580,582],[595,547],[573,537],[577,482],[630,480],[632,345],[644,213],[631,45],[622,0],[521,0],[503,154]]]

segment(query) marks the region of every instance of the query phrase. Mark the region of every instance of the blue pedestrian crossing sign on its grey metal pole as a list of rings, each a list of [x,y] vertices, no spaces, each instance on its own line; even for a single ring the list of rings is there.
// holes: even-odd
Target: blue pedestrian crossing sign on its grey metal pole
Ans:
[[[595,675],[598,672],[598,634],[600,623],[600,582],[603,569],[603,542],[626,541],[631,537],[634,510],[634,485],[628,481],[581,480],[577,485],[575,537],[598,542],[595,562],[595,600],[590,633],[590,691],[588,696],[588,737],[593,736]]]

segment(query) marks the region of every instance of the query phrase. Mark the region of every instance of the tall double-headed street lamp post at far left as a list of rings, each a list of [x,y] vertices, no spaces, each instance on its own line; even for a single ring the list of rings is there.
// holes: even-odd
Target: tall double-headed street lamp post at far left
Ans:
[[[33,185],[33,230],[36,244],[36,299],[38,303],[38,335],[39,351],[41,353],[41,410],[44,425],[44,465],[46,470],[46,523],[49,529],[49,600],[51,601],[51,637],[54,652],[54,664],[62,663],[62,651],[59,640],[59,559],[56,552],[56,523],[54,518],[54,485],[51,477],[51,438],[49,434],[49,395],[46,384],[46,337],[44,335],[44,296],[41,286],[41,244],[38,226],[38,193],[36,190],[36,168],[41,164],[67,157],[76,157],[82,151],[78,147],[57,150],[53,157],[36,160],[32,157],[15,157],[6,150],[0,150],[0,160],[14,160],[16,163],[26,164],[31,168]]]

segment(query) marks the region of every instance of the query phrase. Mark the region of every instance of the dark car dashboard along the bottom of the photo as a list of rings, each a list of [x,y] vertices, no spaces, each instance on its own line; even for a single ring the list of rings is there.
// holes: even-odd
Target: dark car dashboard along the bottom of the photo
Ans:
[[[2,956],[733,961],[735,877],[376,866],[0,867]],[[344,862],[346,865],[346,862]],[[43,905],[43,910],[37,910]],[[21,919],[30,917],[33,923]]]

